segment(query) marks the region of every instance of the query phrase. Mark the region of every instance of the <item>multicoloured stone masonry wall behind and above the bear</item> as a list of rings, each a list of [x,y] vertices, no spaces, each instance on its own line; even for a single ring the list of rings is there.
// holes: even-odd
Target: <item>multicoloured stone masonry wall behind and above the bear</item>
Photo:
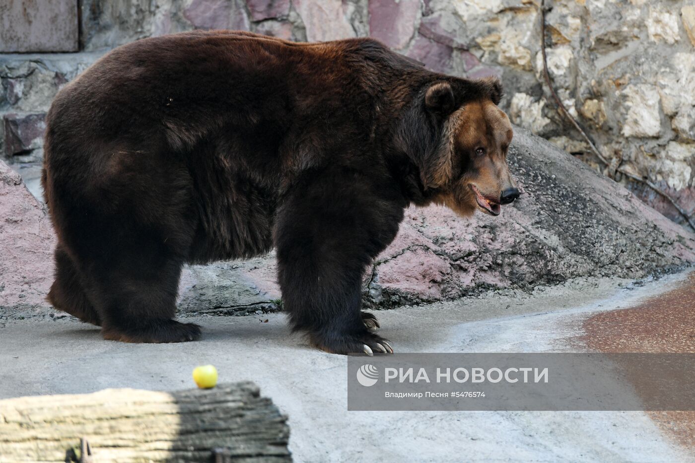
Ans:
[[[548,1],[559,97],[604,156],[695,209],[695,0]],[[542,79],[539,0],[83,0],[79,54],[0,55],[0,152],[40,159],[56,91],[106,49],[190,29],[291,40],[372,35],[427,67],[498,75],[512,120],[595,165]],[[623,180],[625,181],[625,180]],[[677,221],[651,190],[628,188]]]

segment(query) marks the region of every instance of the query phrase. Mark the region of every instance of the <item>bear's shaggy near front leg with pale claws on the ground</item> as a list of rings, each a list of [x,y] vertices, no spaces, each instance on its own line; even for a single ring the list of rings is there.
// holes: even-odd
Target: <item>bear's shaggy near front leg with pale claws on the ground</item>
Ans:
[[[295,191],[277,216],[279,283],[294,330],[322,350],[393,352],[370,332],[374,316],[361,311],[366,267],[398,232],[402,209],[365,197],[368,188],[335,179]]]

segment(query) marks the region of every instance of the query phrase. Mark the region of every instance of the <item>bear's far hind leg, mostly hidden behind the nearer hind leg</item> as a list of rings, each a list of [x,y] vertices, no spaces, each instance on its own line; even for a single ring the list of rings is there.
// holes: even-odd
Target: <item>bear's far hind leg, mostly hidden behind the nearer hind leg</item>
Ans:
[[[60,243],[56,247],[56,279],[47,300],[53,307],[76,316],[83,322],[101,326],[97,309],[85,294],[77,268]]]

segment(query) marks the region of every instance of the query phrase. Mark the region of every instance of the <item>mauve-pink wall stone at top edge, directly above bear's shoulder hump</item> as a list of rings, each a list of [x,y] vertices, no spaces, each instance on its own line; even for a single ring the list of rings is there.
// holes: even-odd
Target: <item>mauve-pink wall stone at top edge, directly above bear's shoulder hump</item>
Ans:
[[[402,49],[415,32],[420,0],[372,0],[369,2],[369,31],[391,48]]]

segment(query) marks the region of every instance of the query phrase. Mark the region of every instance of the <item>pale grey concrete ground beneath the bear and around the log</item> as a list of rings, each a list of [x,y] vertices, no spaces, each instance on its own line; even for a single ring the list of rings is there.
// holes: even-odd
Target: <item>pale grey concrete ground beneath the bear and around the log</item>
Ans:
[[[396,352],[581,351],[589,317],[687,282],[578,279],[377,317]],[[59,316],[0,320],[0,398],[186,389],[193,368],[211,363],[220,382],[252,380],[288,414],[299,462],[695,461],[644,412],[347,412],[345,357],[306,346],[282,314],[187,317],[204,327],[202,340],[169,345],[104,341],[96,327]]]

